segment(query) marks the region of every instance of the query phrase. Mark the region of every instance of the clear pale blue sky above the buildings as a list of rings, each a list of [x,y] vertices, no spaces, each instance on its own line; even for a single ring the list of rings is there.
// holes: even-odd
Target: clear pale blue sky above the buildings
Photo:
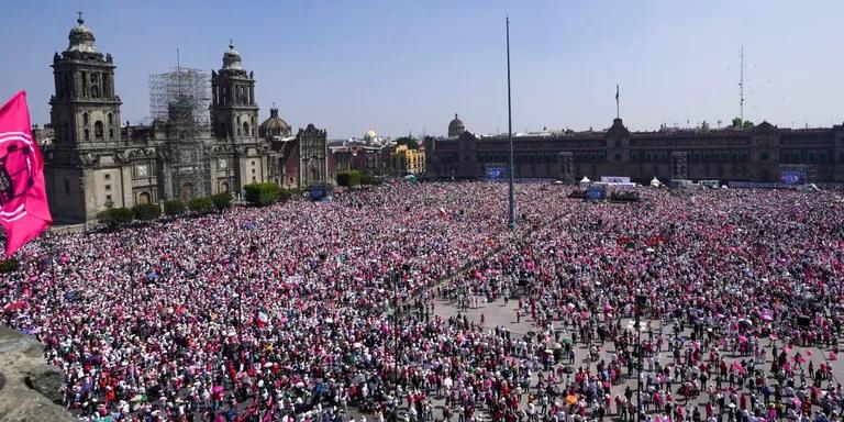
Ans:
[[[331,138],[507,131],[504,15],[511,19],[513,130],[634,130],[738,114],[780,126],[844,121],[844,2],[828,1],[10,1],[0,97],[30,92],[49,120],[54,52],[76,11],[111,53],[123,120],[148,115],[147,76],[181,63],[219,69],[229,38],[255,73],[260,119]]]

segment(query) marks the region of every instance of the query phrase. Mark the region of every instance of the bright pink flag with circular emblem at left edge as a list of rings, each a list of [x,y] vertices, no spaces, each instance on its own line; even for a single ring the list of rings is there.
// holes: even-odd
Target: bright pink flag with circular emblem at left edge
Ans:
[[[44,158],[31,127],[26,91],[20,91],[0,107],[0,224],[7,257],[53,223]]]

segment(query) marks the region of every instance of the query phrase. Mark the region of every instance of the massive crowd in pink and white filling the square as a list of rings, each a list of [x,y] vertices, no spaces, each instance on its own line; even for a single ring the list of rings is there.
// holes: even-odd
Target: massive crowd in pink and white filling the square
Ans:
[[[839,197],[640,190],[519,185],[514,232],[454,182],[41,240],[2,319],[91,421],[632,420],[640,382],[653,421],[839,420]]]

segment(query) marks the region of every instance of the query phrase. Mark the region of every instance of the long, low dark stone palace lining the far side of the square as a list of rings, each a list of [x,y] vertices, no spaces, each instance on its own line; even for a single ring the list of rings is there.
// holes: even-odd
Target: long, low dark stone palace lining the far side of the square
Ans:
[[[456,134],[455,125],[448,125],[449,135]],[[506,135],[464,132],[429,137],[424,144],[430,177],[484,177],[487,168],[506,166],[509,157]],[[792,130],[763,122],[749,129],[631,133],[615,119],[602,132],[513,136],[513,149],[514,176],[520,178],[777,181],[784,173],[797,171],[809,181],[844,181],[844,125]]]

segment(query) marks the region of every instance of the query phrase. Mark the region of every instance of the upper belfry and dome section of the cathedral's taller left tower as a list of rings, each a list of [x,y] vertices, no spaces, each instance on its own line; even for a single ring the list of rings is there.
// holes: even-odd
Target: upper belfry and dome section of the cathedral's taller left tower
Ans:
[[[96,148],[120,142],[120,97],[114,92],[111,55],[97,51],[93,32],[79,12],[69,45],[53,56],[56,93],[49,120],[56,148]]]

